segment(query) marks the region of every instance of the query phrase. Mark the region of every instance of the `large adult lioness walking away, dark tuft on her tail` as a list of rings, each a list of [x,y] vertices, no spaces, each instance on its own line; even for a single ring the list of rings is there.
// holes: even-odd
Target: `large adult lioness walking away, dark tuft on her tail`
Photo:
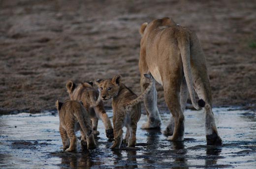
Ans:
[[[163,86],[164,99],[172,117],[164,131],[171,141],[184,139],[184,110],[188,91],[195,109],[204,107],[207,144],[221,144],[212,113],[212,95],[207,74],[206,60],[194,32],[178,26],[169,18],[157,19],[140,28],[139,70],[141,90],[145,89],[144,74],[150,72]],[[194,90],[200,100],[195,100]],[[157,108],[157,91],[152,87],[151,95],[144,99],[148,119],[142,128],[160,127]]]

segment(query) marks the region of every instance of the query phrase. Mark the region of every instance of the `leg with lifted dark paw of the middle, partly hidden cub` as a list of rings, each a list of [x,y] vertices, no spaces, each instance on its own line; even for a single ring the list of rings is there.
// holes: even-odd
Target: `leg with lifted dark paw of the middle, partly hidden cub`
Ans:
[[[114,138],[114,131],[113,127],[111,124],[111,121],[106,113],[106,111],[103,109],[102,103],[95,108],[95,112],[99,116],[99,118],[102,120],[104,126],[105,126],[105,131],[106,131],[106,136],[108,139],[113,139]]]

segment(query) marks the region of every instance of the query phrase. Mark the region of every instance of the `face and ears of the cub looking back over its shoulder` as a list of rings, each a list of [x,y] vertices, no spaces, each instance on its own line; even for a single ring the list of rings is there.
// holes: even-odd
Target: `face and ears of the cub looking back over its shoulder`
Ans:
[[[107,101],[118,95],[120,84],[122,81],[121,75],[116,75],[112,79],[96,79],[95,84],[100,90],[99,97],[102,101]]]

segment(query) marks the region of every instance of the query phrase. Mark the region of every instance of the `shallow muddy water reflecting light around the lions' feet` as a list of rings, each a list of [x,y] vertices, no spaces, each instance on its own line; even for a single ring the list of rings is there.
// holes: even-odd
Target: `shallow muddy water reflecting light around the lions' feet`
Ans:
[[[97,148],[64,153],[56,112],[0,116],[0,168],[256,168],[256,114],[248,111],[214,109],[222,146],[206,146],[202,111],[186,110],[185,141],[166,141],[160,130],[141,130],[138,123],[137,146],[112,151],[99,121]],[[112,119],[112,112],[108,112]],[[169,118],[162,113],[162,128]],[[79,136],[80,133],[77,133]]]

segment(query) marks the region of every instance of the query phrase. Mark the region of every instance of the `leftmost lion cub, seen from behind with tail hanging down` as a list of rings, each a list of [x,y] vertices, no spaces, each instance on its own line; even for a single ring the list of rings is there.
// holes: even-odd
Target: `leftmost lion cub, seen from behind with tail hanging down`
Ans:
[[[75,132],[81,131],[81,146],[84,149],[95,149],[96,143],[92,133],[91,120],[84,106],[73,100],[64,103],[56,101],[56,107],[60,117],[60,134],[63,149],[66,152],[77,150],[77,138]]]

